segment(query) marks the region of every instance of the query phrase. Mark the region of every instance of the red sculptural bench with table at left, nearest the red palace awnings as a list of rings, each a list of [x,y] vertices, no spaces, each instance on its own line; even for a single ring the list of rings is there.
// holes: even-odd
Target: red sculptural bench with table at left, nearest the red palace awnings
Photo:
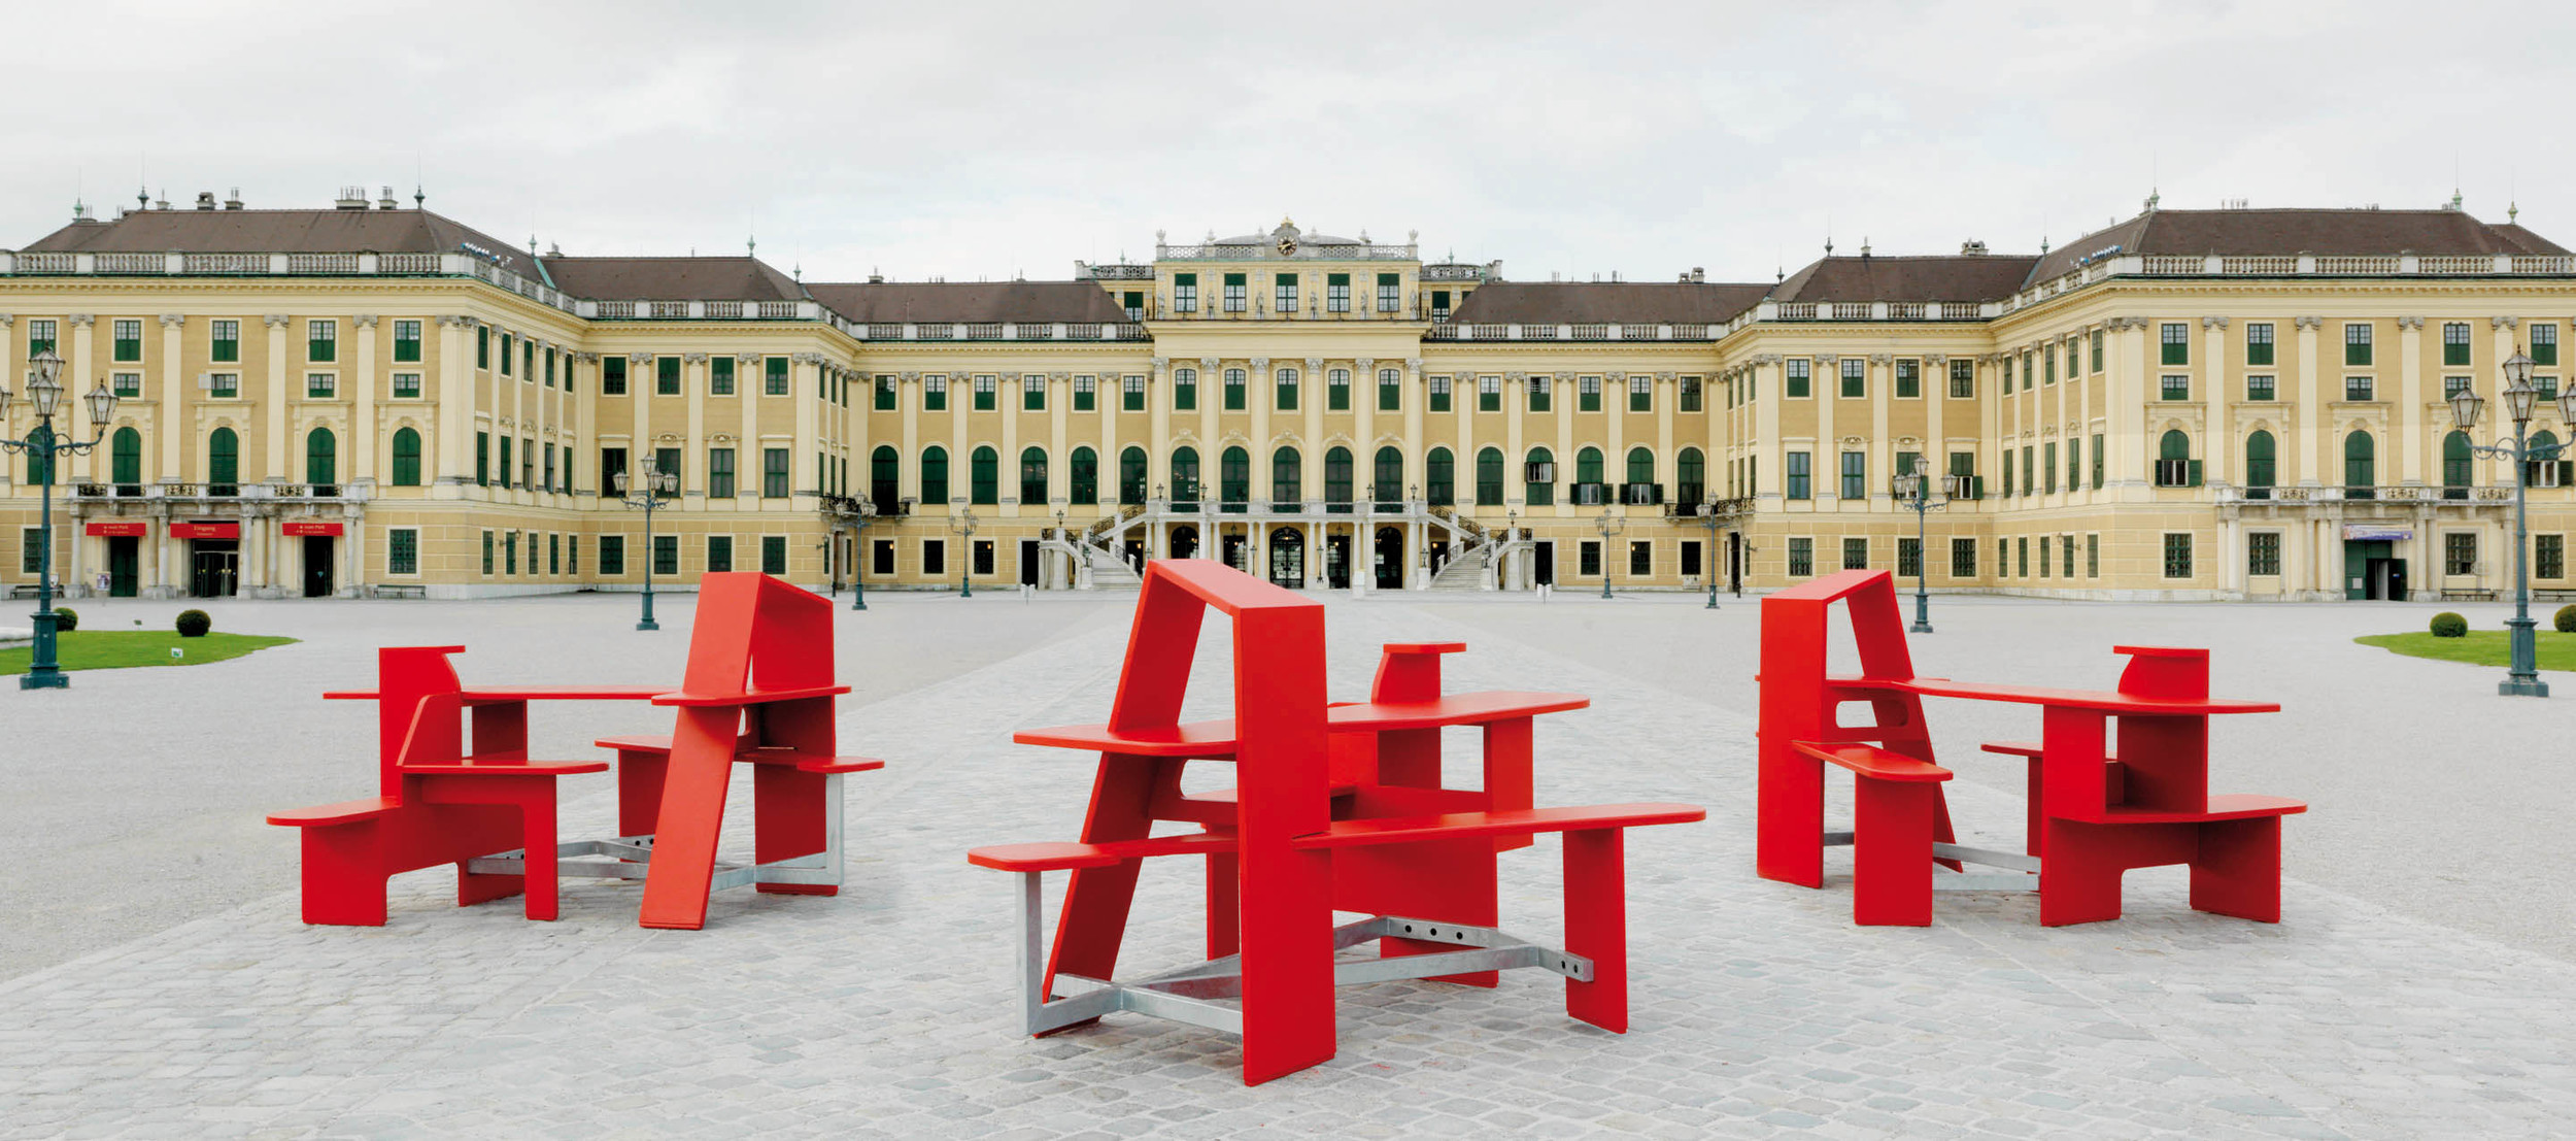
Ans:
[[[386,646],[374,690],[379,796],[270,814],[304,832],[304,922],[384,925],[386,878],[456,865],[456,904],[526,894],[528,919],[559,914],[556,878],[641,878],[644,927],[703,927],[708,894],[835,894],[840,778],[881,768],[840,757],[832,605],[765,574],[706,574],[680,690],[665,685],[464,688],[448,654]],[[556,778],[605,760],[528,760],[531,701],[649,701],[672,734],[608,737],[618,750],[618,835],[556,840]],[[464,716],[471,716],[471,747]],[[716,858],[726,783],[752,765],[755,860]]]

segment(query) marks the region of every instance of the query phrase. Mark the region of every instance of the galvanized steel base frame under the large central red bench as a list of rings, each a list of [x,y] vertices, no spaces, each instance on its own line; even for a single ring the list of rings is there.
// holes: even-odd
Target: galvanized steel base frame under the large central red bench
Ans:
[[[1136,981],[1087,979],[1056,974],[1056,984],[1090,986],[1061,999],[1046,997],[1046,894],[1043,873],[1020,876],[1020,1020],[1030,1035],[1090,1023],[1100,1015],[1128,1010],[1136,1015],[1170,1017],[1208,1030],[1244,1033],[1244,1012],[1221,999],[1242,997],[1242,956],[1211,958],[1206,963],[1162,971]],[[1499,927],[1468,927],[1435,919],[1406,919],[1378,914],[1345,922],[1332,930],[1332,948],[1345,950],[1370,940],[1401,938],[1414,943],[1455,943],[1468,950],[1432,950],[1417,956],[1345,958],[1332,966],[1337,986],[1394,979],[1437,979],[1473,971],[1507,971],[1535,966],[1574,981],[1592,981],[1592,961],[1556,948],[1510,935]]]

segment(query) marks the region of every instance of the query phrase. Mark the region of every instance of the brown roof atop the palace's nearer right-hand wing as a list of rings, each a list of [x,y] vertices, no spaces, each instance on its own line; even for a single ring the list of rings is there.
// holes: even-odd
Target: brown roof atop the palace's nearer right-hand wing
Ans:
[[[2468,211],[2380,211],[2380,209],[2241,209],[2166,211],[2084,234],[2040,258],[2030,281],[2056,278],[2089,258],[2112,252],[2164,255],[2463,255],[2463,252],[2568,252],[2517,224],[2486,224]]]

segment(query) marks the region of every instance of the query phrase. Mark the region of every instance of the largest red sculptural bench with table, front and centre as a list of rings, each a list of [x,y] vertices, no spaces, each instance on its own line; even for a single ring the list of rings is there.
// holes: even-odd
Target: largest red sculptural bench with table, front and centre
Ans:
[[[1234,719],[1180,724],[1203,610],[1234,618]],[[1033,729],[1023,744],[1100,755],[1077,842],[976,847],[1020,873],[1020,999],[1030,1035],[1128,1010],[1242,1035],[1244,1082],[1334,1053],[1337,984],[1494,971],[1566,976],[1569,1015],[1628,1028],[1623,829],[1695,822],[1687,804],[1530,806],[1530,719],[1569,693],[1440,693],[1440,654],[1386,646],[1365,703],[1324,701],[1324,608],[1206,559],[1146,564],[1108,724]],[[1440,729],[1484,729],[1484,788],[1443,788]],[[1231,762],[1236,786],[1182,793],[1188,762]],[[1200,832],[1151,835],[1154,822]],[[1497,922],[1494,858],[1564,832],[1566,945]],[[1118,981],[1141,863],[1206,863],[1208,961]],[[1048,871],[1072,881],[1043,932]],[[1334,925],[1332,912],[1370,914]],[[1337,950],[1378,943],[1378,958]]]

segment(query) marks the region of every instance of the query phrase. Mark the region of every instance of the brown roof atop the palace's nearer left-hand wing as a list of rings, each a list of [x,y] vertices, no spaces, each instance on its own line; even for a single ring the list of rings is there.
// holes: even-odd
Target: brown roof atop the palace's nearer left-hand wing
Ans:
[[[471,252],[523,278],[544,281],[528,250],[422,209],[363,211],[134,211],[113,222],[75,222],[39,237],[31,252]]]

